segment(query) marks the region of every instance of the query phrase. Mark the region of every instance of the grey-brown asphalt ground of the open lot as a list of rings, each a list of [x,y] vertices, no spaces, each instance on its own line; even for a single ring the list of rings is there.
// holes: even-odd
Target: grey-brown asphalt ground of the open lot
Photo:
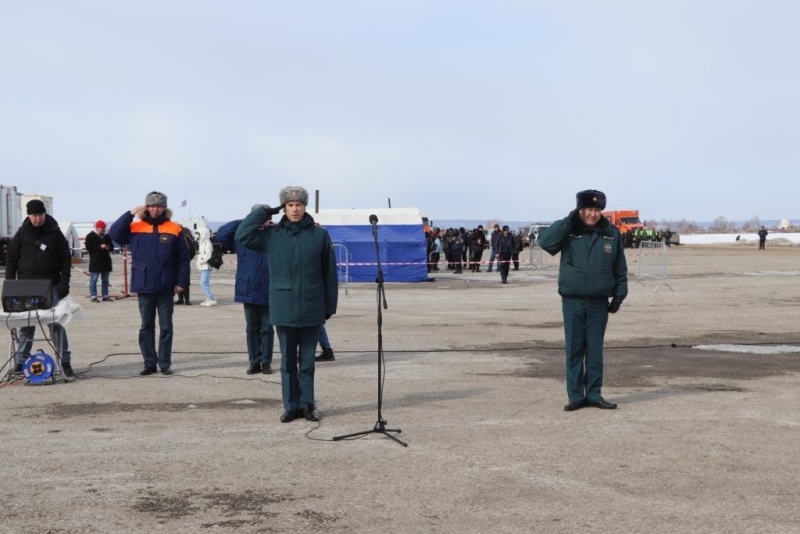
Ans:
[[[672,247],[655,292],[629,251],[614,411],[563,410],[556,260],[387,284],[380,412],[376,286],[342,286],[322,421],[289,424],[279,374],[245,374],[233,259],[216,307],[193,272],[168,377],[138,375],[135,298],[76,270],[77,379],[0,387],[0,532],[800,531],[800,247]],[[794,352],[694,348],[721,344]]]

